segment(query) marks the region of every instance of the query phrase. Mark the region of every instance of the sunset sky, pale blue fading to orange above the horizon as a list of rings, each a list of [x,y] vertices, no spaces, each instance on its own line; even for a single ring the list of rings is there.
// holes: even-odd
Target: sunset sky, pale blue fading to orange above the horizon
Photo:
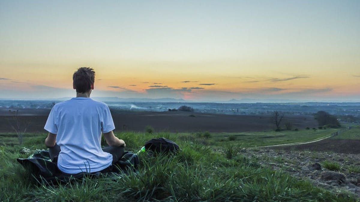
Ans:
[[[360,1],[0,0],[0,98],[360,102]]]

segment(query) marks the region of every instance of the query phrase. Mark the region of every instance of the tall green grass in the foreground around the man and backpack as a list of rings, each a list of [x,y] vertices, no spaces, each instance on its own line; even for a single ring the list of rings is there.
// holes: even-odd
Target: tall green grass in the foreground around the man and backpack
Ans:
[[[45,149],[45,134],[31,136],[24,139],[22,146],[0,146],[0,201],[357,200],[347,193],[332,193],[315,187],[306,179],[294,178],[282,171],[262,166],[256,159],[238,152],[239,143],[233,144],[238,142],[238,139],[219,143],[224,150],[216,152],[219,150],[209,144],[214,141],[213,136],[204,139],[189,133],[177,135],[133,132],[116,135],[124,139],[127,150],[134,152],[149,139],[157,137],[175,141],[182,150],[174,156],[148,157],[140,154],[138,174],[84,178],[67,184],[48,186],[34,183],[30,173],[15,160],[28,156],[20,153],[22,147]],[[237,136],[241,137],[243,136]],[[12,138],[17,140],[16,137]],[[231,153],[231,158],[226,152]]]

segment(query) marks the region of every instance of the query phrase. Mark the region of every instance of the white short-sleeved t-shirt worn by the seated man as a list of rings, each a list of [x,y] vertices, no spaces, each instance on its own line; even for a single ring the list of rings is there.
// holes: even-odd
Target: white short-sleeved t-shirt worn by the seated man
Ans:
[[[61,151],[58,167],[64,173],[93,173],[112,164],[101,149],[101,133],[115,129],[109,107],[86,97],[74,97],[51,109],[45,130],[57,134]]]

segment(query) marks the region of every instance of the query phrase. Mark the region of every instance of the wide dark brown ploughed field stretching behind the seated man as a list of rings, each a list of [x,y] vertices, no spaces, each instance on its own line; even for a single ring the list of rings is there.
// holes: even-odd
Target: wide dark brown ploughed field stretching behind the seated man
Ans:
[[[6,115],[4,115],[4,113]],[[27,132],[46,132],[44,125],[49,111],[19,110],[19,118],[23,121],[31,120]],[[274,128],[271,115],[225,115],[205,114],[180,111],[164,112],[128,112],[111,111],[115,131],[143,132],[147,125],[151,125],[156,132],[252,132]],[[0,116],[0,132],[14,132],[9,121],[14,124],[13,116],[4,111]],[[291,122],[293,128],[305,129],[316,127],[317,121],[309,115],[286,115],[283,123]]]

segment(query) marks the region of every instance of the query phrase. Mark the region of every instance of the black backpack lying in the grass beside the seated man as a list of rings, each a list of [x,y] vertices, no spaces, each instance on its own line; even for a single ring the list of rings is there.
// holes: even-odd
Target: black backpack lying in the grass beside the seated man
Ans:
[[[155,153],[176,153],[180,148],[175,142],[166,138],[153,138],[145,143],[145,150]]]

